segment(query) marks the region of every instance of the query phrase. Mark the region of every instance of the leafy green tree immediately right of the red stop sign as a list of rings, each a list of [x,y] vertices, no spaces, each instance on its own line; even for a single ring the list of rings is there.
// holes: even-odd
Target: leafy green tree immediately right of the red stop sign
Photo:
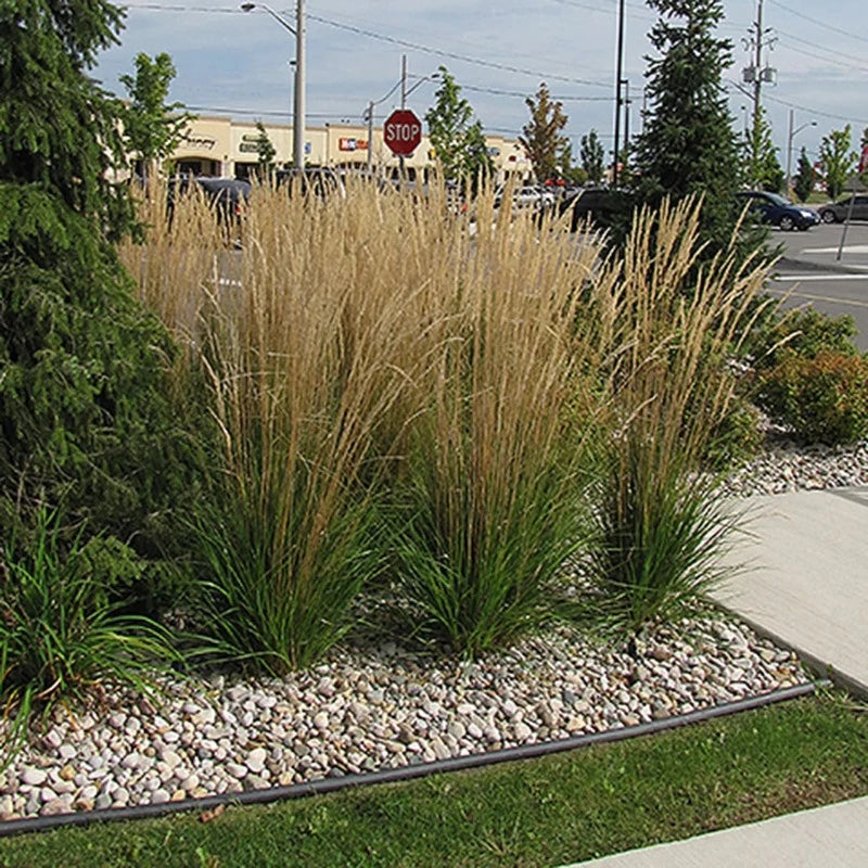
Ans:
[[[448,69],[441,66],[439,73],[436,102],[425,113],[431,146],[446,180],[475,186],[481,176],[490,175],[494,169],[482,122],[473,120],[473,106],[461,97],[461,87]]]

